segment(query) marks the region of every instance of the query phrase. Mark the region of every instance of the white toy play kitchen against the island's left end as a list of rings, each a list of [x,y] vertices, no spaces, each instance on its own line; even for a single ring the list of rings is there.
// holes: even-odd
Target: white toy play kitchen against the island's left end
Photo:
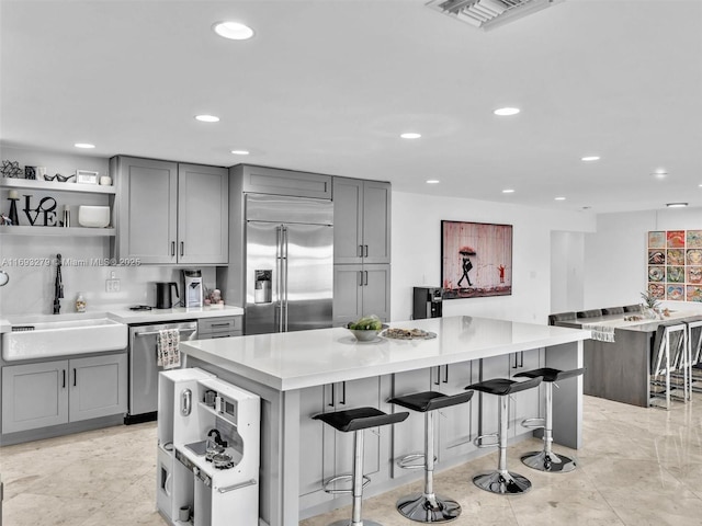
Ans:
[[[157,506],[172,526],[258,526],[261,400],[197,368],[159,375]]]

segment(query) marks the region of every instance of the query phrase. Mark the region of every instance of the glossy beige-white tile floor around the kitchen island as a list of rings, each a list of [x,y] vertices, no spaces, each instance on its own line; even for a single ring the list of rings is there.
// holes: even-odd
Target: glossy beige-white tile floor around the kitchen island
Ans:
[[[155,442],[156,425],[149,423],[0,448],[3,526],[162,526],[155,511]],[[579,469],[559,474],[519,462],[541,442],[511,447],[510,468],[533,483],[525,495],[492,495],[469,482],[494,467],[495,454],[439,473],[437,491],[463,506],[451,524],[702,525],[702,395],[669,412],[585,397],[584,442]],[[419,489],[415,483],[369,499],[364,516],[385,526],[416,525],[394,503]],[[301,524],[349,516],[344,507]]]

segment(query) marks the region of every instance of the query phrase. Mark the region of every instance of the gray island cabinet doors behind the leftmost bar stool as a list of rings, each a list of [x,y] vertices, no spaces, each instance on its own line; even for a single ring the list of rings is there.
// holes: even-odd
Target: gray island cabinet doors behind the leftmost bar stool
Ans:
[[[312,416],[363,405],[380,408],[384,402],[381,377],[341,381],[301,391],[299,493],[301,508],[333,499],[324,483],[340,474],[350,474],[353,464],[353,433],[341,433]],[[378,473],[383,428],[364,432],[364,474]],[[350,487],[349,482],[346,484]]]

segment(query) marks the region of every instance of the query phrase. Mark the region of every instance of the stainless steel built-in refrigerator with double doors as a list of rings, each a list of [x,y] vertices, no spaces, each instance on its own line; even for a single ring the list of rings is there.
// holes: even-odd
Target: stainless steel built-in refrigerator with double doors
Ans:
[[[245,334],[331,327],[333,205],[247,194]]]

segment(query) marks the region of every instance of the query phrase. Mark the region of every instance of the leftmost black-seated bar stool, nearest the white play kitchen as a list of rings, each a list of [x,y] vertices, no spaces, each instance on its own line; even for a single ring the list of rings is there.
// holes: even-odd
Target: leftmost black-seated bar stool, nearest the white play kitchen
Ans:
[[[325,424],[329,424],[337,431],[343,433],[353,432],[353,471],[349,474],[342,474],[329,479],[325,483],[327,493],[351,493],[353,501],[351,504],[351,522],[348,519],[337,521],[330,526],[380,526],[373,521],[363,521],[361,518],[361,507],[363,501],[363,488],[371,482],[371,479],[363,474],[363,430],[376,427],[380,425],[389,425],[401,422],[409,416],[408,412],[387,414],[375,408],[355,408],[347,411],[335,411],[332,413],[320,413],[313,416],[315,420],[321,420]],[[331,484],[338,480],[350,479],[352,489],[333,490]]]

